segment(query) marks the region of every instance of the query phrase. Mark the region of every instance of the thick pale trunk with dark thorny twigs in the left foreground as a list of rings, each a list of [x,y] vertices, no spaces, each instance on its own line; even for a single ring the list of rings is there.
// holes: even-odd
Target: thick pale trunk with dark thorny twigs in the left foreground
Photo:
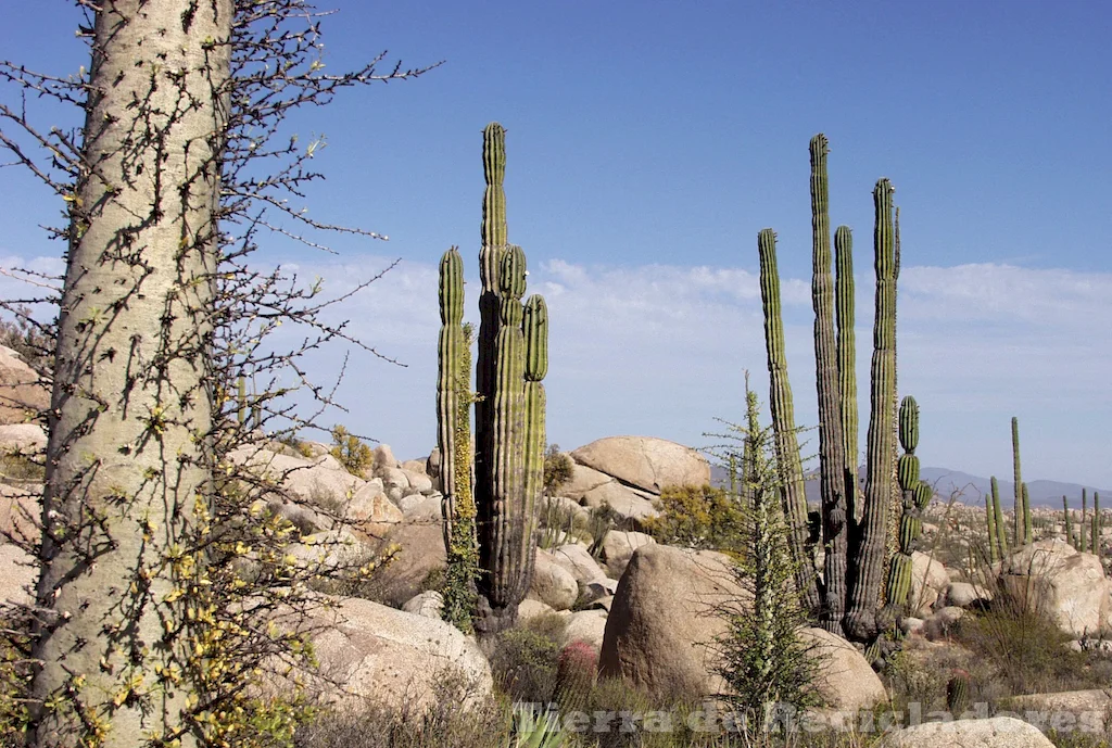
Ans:
[[[198,571],[179,552],[210,476],[232,10],[97,11],[51,401],[38,746],[196,745],[183,714],[202,665],[187,615]]]

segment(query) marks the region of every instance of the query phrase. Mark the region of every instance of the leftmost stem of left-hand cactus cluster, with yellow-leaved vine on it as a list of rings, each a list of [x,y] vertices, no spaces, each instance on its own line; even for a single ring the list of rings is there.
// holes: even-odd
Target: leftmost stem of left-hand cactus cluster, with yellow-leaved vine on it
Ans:
[[[444,515],[444,619],[471,631],[478,578],[478,539],[471,492],[470,328],[464,326],[464,260],[453,247],[440,258],[439,376],[436,386],[437,447]]]

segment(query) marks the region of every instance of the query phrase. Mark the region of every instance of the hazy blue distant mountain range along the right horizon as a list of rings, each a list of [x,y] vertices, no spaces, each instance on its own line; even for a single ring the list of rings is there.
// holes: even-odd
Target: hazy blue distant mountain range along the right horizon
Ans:
[[[864,475],[865,468],[861,467],[861,473]],[[989,478],[982,478],[981,476],[971,476],[967,472],[962,472],[961,470],[951,470],[949,468],[923,468],[920,471],[920,477],[934,486],[935,493],[942,498],[949,498],[951,493],[957,491],[960,496],[959,501],[963,503],[981,503],[984,501],[984,495],[991,490],[991,483]],[[1015,491],[1012,488],[1013,483],[1011,480],[1003,480],[1002,477],[996,478],[1000,483],[1000,496],[1003,507],[1006,510],[1014,502]],[[726,469],[719,466],[711,467],[711,482],[715,486],[728,486],[729,479],[726,475]],[[1092,486],[1082,486],[1081,483],[1068,483],[1061,480],[1029,480],[1027,481],[1027,493],[1031,495],[1031,506],[1033,507],[1053,507],[1059,508],[1062,506],[1062,497],[1065,496],[1070,500],[1071,508],[1081,508],[1081,489],[1085,488],[1089,491],[1089,503],[1092,506],[1092,496],[1094,492],[1104,496],[1105,507],[1112,507],[1112,490],[1106,490],[1103,488],[1095,488]],[[812,471],[806,476],[806,490],[807,490],[807,501],[818,502],[818,473]]]

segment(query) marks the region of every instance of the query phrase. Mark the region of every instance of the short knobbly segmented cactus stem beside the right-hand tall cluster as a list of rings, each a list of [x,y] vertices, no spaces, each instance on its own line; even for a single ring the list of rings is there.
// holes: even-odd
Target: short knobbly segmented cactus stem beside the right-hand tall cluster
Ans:
[[[919,478],[919,405],[909,396],[900,403],[900,456],[896,473],[903,493],[903,513],[900,518],[900,550],[892,557],[888,568],[887,600],[890,605],[903,606],[911,590],[912,551],[919,542],[923,529],[923,509],[931,500],[931,487]]]

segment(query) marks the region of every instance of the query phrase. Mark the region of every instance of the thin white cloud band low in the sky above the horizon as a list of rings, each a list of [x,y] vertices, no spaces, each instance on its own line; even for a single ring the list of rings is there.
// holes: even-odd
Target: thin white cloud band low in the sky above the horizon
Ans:
[[[338,295],[389,263],[379,257],[299,263]],[[478,277],[467,282],[477,321]],[[868,419],[873,281],[858,275],[857,375],[861,446]],[[0,281],[2,283],[3,281]],[[404,261],[330,312],[407,368],[353,352],[340,400],[350,413],[326,425],[391,443],[399,457],[435,440],[436,266]],[[529,275],[552,318],[549,438],[564,447],[616,433],[702,446],[714,420],[739,420],[743,369],[764,399],[767,373],[758,279],[738,268],[578,266],[553,260]],[[796,419],[814,425],[811,281],[785,279],[785,336]],[[6,293],[8,286],[0,285]],[[1011,470],[1009,419],[1019,416],[1024,475],[1112,488],[1112,275],[1003,265],[905,267],[900,278],[898,380],[923,411],[920,453],[969,472]],[[344,350],[315,355],[321,381]],[[810,450],[814,451],[813,439]]]

